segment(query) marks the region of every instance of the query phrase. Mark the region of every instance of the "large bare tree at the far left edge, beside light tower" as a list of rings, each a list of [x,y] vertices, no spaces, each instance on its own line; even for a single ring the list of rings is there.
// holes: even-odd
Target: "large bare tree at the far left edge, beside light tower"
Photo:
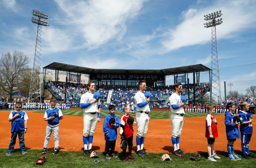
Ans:
[[[13,51],[12,55],[7,52],[0,58],[0,87],[9,94],[12,100],[12,93],[20,91],[20,87],[27,82],[26,76],[30,68],[27,64],[30,59],[23,52]]]

